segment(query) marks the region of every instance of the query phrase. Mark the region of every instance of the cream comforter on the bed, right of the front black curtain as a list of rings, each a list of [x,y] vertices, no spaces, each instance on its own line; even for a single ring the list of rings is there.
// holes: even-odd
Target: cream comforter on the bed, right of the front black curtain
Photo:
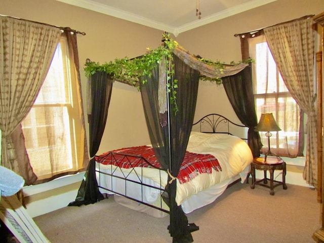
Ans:
[[[212,174],[200,174],[188,183],[177,185],[176,201],[181,205],[187,198],[200,191],[207,190],[218,183],[233,179],[249,166],[253,155],[248,144],[235,136],[227,134],[208,134],[191,132],[187,150],[193,153],[209,153],[214,155],[222,171]],[[241,175],[245,180],[246,173]]]

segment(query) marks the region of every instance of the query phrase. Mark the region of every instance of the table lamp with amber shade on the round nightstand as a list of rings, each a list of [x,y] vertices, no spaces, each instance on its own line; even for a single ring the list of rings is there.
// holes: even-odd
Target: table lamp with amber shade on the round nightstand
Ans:
[[[270,137],[272,136],[271,132],[280,131],[281,129],[277,125],[272,113],[262,113],[257,127],[254,129],[256,132],[266,132],[265,136],[268,138],[268,147],[269,150],[264,154],[264,161],[267,160],[267,155],[271,155],[270,150]]]

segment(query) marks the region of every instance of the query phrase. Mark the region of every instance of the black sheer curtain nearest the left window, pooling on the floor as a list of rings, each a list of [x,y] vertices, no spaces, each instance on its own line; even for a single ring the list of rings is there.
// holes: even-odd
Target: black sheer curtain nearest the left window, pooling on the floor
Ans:
[[[92,106],[91,114],[88,116],[88,121],[91,160],[75,201],[70,203],[68,206],[94,204],[103,199],[103,195],[99,192],[96,180],[96,161],[94,156],[99,149],[101,138],[106,126],[112,81],[113,75],[109,75],[106,72],[96,72],[90,78]]]

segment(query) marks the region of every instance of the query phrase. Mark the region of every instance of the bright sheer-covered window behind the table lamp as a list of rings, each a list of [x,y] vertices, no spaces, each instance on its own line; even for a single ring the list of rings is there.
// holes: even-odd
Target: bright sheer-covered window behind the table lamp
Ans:
[[[253,90],[257,117],[262,113],[273,113],[279,132],[272,132],[271,151],[288,157],[296,157],[299,146],[300,108],[289,93],[284,80],[273,60],[265,37],[249,39],[250,55],[253,64]],[[265,132],[260,132],[264,152],[268,150]]]

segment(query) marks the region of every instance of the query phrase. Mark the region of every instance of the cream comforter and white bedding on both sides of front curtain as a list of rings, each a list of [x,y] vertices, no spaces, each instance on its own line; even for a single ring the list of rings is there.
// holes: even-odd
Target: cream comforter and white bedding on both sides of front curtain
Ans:
[[[191,132],[187,150],[193,153],[203,153],[214,155],[222,168],[222,171],[214,171],[212,174],[200,174],[190,182],[180,184],[177,182],[176,202],[182,205],[185,213],[192,212],[196,208],[203,207],[214,201],[226,189],[226,186],[231,183],[237,175],[240,175],[242,181],[245,180],[250,171],[250,164],[253,160],[252,152],[247,143],[235,136],[227,134],[207,134],[199,132]],[[97,165],[99,167],[99,165]],[[115,170],[114,166],[100,165],[100,170]],[[119,168],[117,169],[117,171]],[[129,173],[130,169],[123,169],[123,173]],[[159,186],[160,174],[158,170],[151,168],[138,168],[137,173],[147,178],[147,184]],[[114,172],[115,173],[115,172]],[[121,172],[120,172],[121,173]],[[136,177],[134,176],[134,179]],[[167,185],[168,175],[162,171],[161,187]],[[111,188],[111,178],[107,179],[101,176],[98,183],[106,188]],[[153,181],[153,182],[152,182]],[[120,188],[115,186],[114,190],[125,190],[125,182],[121,183]],[[219,185],[219,186],[218,186]],[[136,195],[136,185],[129,190]],[[210,189],[211,188],[211,189]],[[144,192],[144,199],[151,203],[158,197],[158,190],[147,188],[149,191]],[[208,190],[210,189],[210,191]],[[138,190],[141,190],[140,188]],[[197,194],[199,193],[199,196]],[[200,196],[201,195],[201,196]]]

